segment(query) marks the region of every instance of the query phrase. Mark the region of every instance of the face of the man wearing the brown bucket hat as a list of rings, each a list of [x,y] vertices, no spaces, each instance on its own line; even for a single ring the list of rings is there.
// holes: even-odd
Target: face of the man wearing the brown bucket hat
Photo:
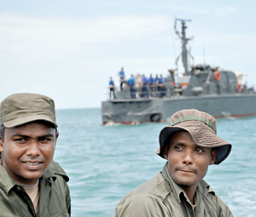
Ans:
[[[172,136],[169,150],[165,152],[172,180],[183,189],[195,190],[207,174],[208,166],[215,162],[217,150],[196,146],[187,131]]]

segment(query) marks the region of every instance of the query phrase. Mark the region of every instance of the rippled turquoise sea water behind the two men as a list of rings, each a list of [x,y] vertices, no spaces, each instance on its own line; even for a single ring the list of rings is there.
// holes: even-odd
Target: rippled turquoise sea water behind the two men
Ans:
[[[160,172],[154,154],[167,123],[102,126],[101,109],[57,111],[60,136],[55,161],[70,177],[73,217],[114,216],[126,193]],[[234,216],[256,216],[256,117],[218,119],[218,136],[230,157],[209,167],[205,180]]]

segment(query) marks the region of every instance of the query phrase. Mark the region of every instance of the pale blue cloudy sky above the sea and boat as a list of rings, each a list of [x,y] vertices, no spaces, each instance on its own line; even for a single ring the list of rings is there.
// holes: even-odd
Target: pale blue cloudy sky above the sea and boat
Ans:
[[[195,64],[242,72],[256,88],[255,10],[253,0],[0,0],[0,100],[29,92],[57,109],[101,107],[121,67],[167,76],[181,52],[175,16],[192,20]]]

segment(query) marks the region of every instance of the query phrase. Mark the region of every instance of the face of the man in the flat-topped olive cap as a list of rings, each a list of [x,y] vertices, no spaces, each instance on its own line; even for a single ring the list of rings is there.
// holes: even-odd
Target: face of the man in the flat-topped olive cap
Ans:
[[[51,163],[58,132],[44,123],[26,123],[5,128],[2,165],[12,177],[24,184],[35,184]]]

